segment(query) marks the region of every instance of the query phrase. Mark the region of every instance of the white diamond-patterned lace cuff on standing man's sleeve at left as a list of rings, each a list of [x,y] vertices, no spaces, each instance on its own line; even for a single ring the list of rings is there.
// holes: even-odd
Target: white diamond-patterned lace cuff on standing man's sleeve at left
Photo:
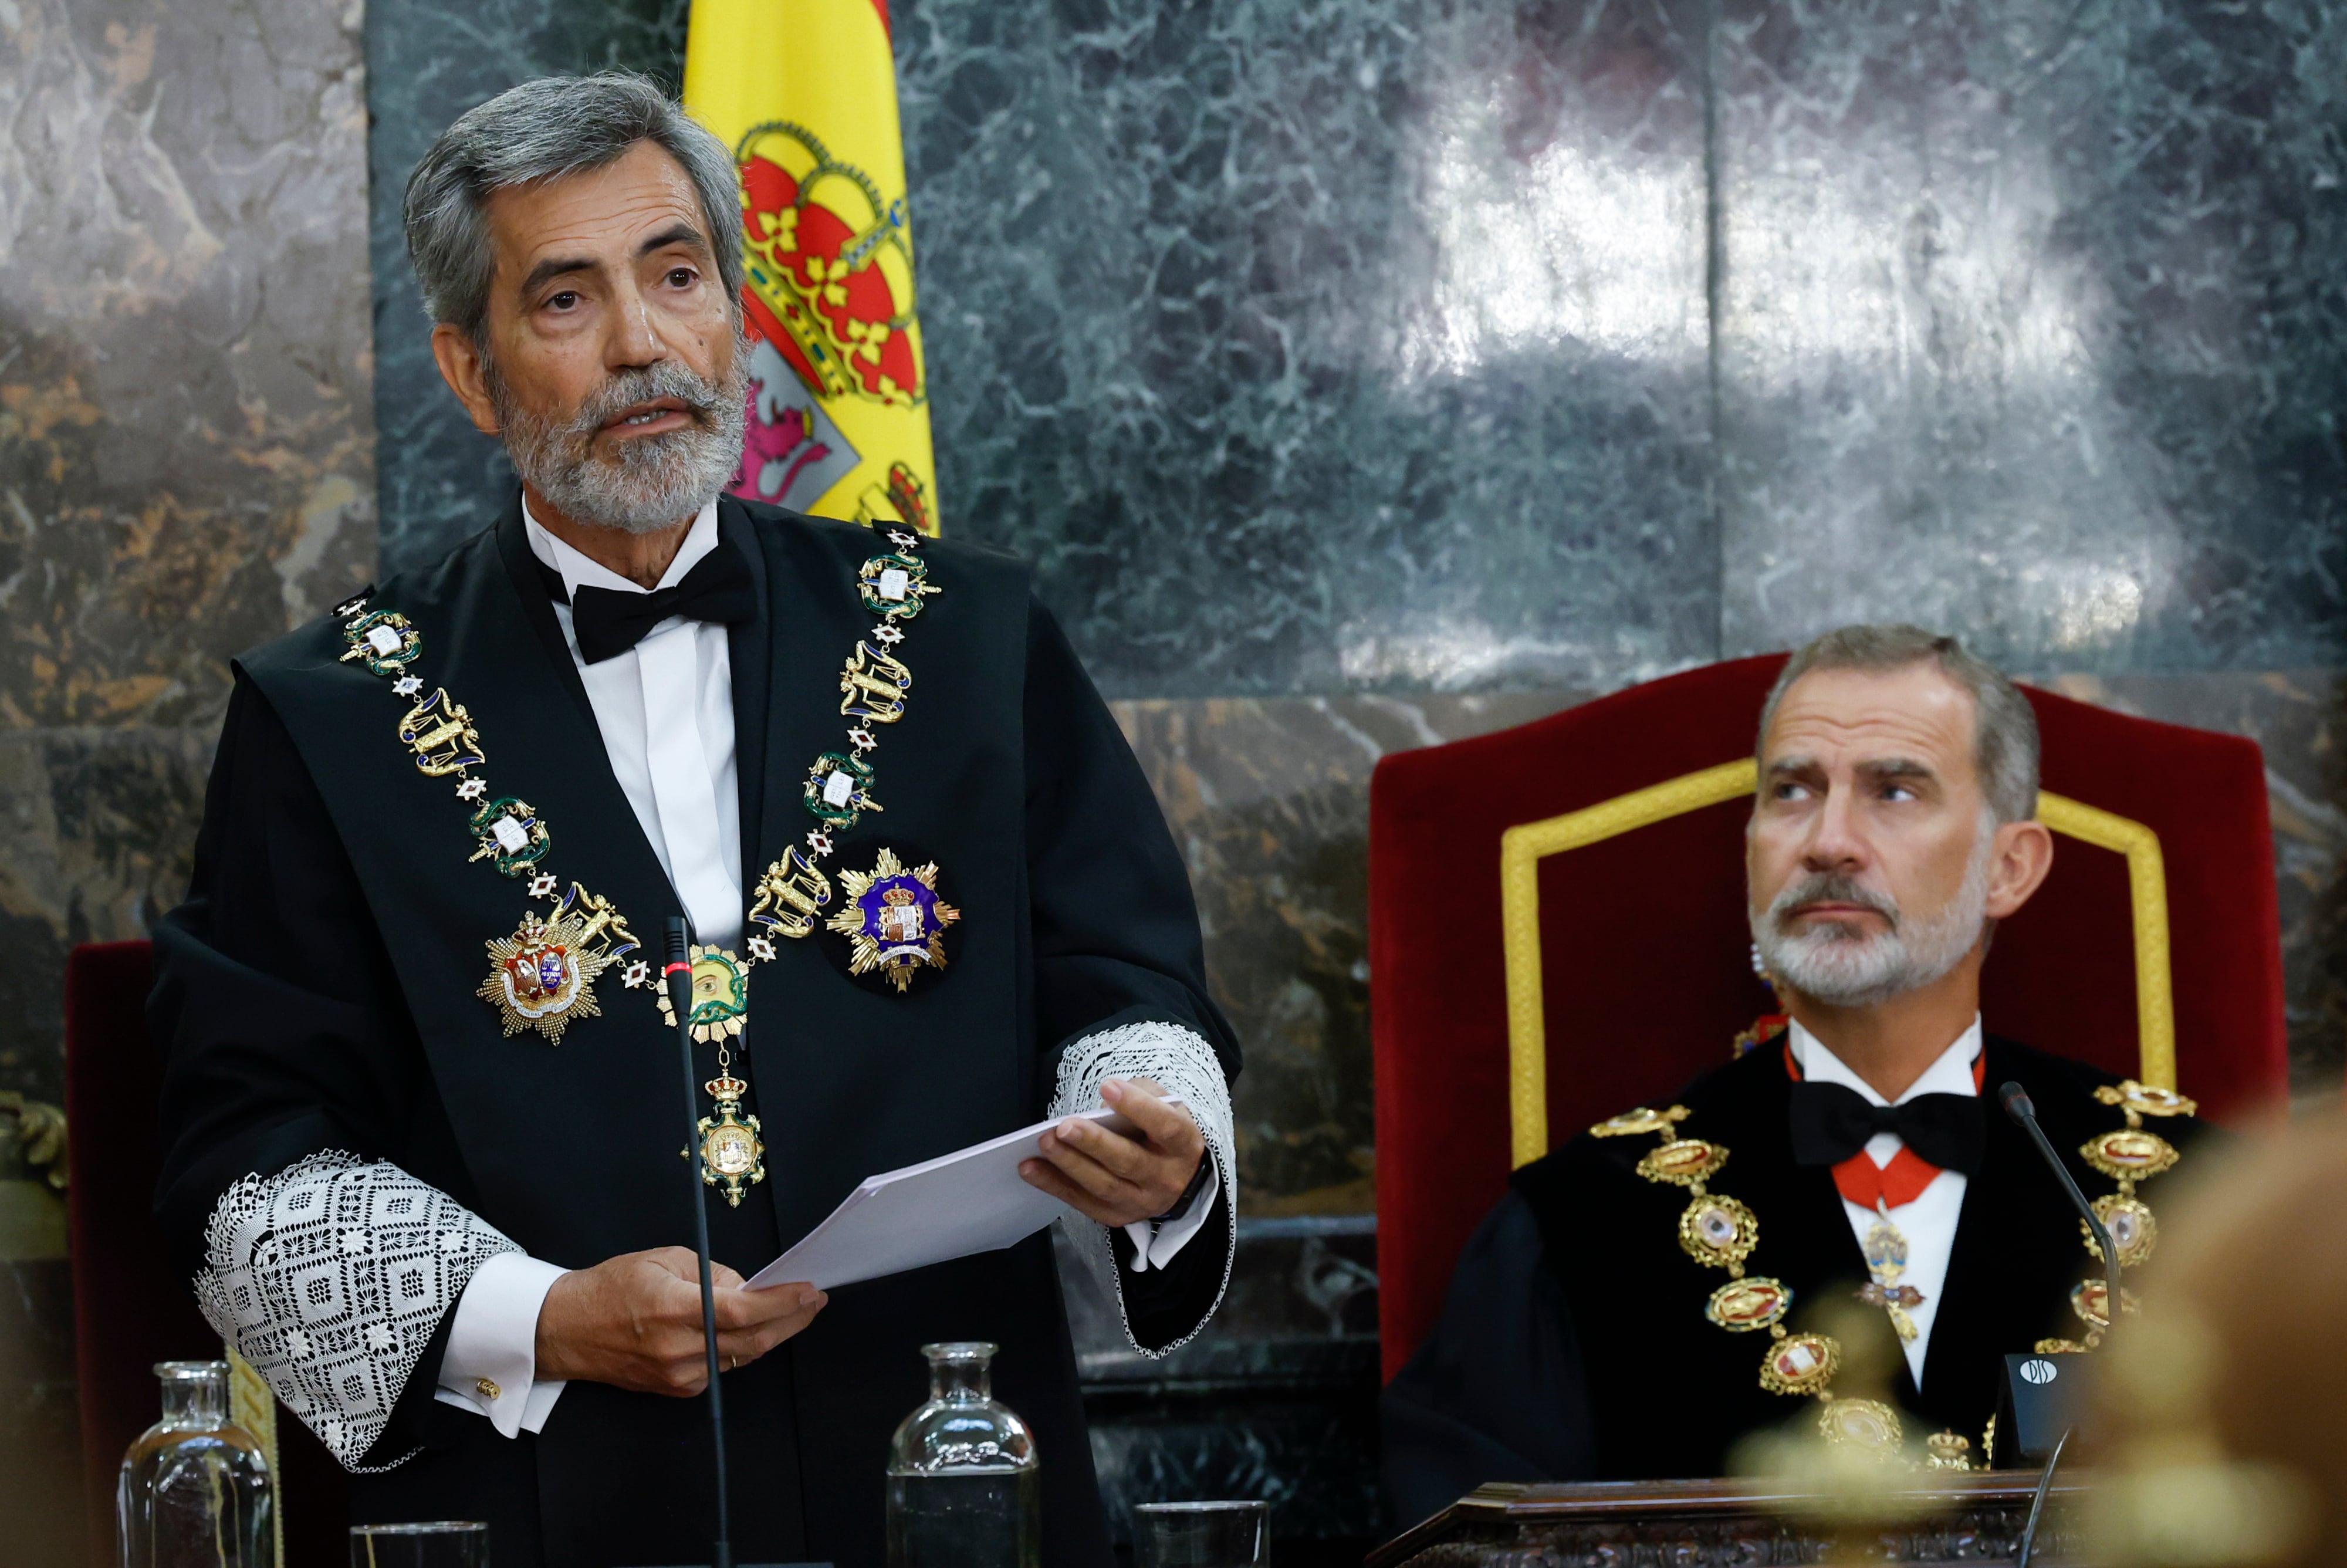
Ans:
[[[195,1298],[345,1469],[488,1258],[521,1251],[397,1164],[326,1150],[237,1181],[211,1209]]]

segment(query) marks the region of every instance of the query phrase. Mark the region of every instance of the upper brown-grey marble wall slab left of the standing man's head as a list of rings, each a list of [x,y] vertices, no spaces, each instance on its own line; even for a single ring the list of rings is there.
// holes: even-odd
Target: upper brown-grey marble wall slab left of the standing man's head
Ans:
[[[0,728],[199,723],[373,566],[359,7],[0,7]]]

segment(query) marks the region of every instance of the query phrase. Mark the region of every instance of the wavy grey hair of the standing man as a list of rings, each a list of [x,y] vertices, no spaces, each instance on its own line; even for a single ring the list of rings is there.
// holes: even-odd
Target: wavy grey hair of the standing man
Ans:
[[[657,143],[683,164],[702,200],[725,298],[739,312],[742,188],[732,153],[695,124],[652,77],[603,70],[507,87],[458,115],[415,164],[408,176],[406,225],[425,315],[481,343],[495,272],[491,192],[606,169],[638,141]]]

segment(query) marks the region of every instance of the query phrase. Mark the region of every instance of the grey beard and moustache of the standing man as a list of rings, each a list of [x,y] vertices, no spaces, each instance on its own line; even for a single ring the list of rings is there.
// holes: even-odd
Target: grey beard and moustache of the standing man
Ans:
[[[746,347],[746,338],[735,343],[723,383],[704,380],[674,359],[620,371],[568,418],[523,411],[495,373],[495,361],[483,359],[481,369],[505,430],[505,451],[523,484],[589,528],[660,533],[699,514],[742,462]],[[660,437],[620,441],[610,451],[596,448],[603,425],[655,397],[681,401],[692,423]]]

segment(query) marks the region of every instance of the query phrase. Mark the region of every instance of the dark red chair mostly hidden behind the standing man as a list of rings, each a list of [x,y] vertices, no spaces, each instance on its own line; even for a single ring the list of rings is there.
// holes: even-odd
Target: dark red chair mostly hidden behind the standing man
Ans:
[[[146,941],[73,948],[66,960],[66,1157],[73,1218],[73,1338],[89,1483],[92,1563],[115,1563],[115,1472],[155,1425],[155,1361],[214,1361],[221,1336],[164,1256],[155,1228],[162,1063],[146,1033],[155,955]],[[343,1467],[298,1420],[277,1422],[286,1563],[343,1563]]]

